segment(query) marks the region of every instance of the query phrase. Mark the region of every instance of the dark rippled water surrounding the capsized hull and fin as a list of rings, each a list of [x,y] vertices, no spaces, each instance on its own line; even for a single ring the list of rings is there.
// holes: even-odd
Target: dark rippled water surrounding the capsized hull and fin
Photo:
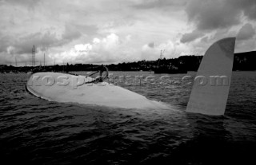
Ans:
[[[1,164],[256,162],[255,72],[234,72],[225,116],[186,114],[190,84],[122,85],[172,106],[138,110],[42,100],[26,92],[27,77],[0,75]]]

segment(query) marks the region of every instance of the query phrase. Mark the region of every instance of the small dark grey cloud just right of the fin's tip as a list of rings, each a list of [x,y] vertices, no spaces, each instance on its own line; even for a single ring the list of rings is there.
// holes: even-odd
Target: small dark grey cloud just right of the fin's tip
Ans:
[[[250,23],[247,23],[246,25],[242,26],[242,28],[239,30],[237,39],[247,40],[254,37],[254,34],[255,34],[254,27]]]

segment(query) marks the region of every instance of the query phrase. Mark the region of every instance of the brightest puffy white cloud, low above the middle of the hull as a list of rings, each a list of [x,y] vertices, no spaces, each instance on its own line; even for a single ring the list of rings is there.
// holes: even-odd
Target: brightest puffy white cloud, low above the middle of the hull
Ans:
[[[59,63],[115,63],[138,60],[134,56],[134,49],[126,46],[127,43],[129,37],[120,39],[118,35],[110,33],[102,39],[94,38],[90,43],[74,45],[74,48],[68,51],[50,53],[50,57]]]

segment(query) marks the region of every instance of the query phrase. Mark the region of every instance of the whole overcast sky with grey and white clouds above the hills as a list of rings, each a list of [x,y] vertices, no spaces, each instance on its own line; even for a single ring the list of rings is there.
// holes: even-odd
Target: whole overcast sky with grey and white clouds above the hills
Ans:
[[[0,0],[0,64],[110,64],[204,54],[223,37],[256,50],[255,0]]]

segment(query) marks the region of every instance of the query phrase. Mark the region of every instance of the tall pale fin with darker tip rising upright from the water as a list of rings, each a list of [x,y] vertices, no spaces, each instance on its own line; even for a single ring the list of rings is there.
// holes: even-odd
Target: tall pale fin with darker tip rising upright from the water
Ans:
[[[234,61],[235,37],[215,42],[202,58],[186,112],[221,116],[226,109]]]

